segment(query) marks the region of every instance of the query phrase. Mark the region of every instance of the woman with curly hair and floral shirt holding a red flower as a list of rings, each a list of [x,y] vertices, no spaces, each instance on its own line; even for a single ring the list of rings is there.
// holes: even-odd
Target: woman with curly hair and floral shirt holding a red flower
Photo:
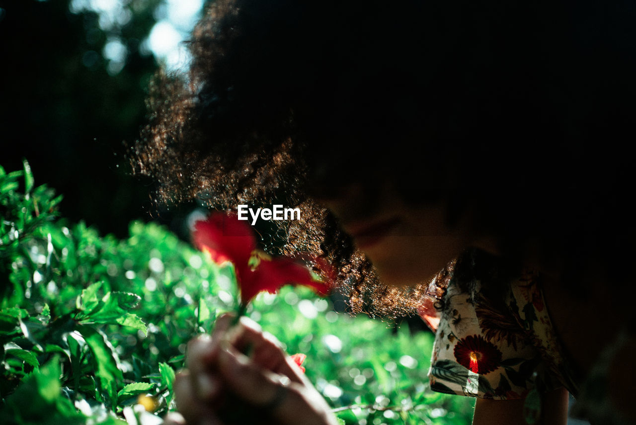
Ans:
[[[284,253],[331,260],[353,312],[423,303],[431,386],[478,397],[474,424],[565,423],[567,391],[633,423],[635,11],[218,1],[135,166],[163,200],[300,207]],[[272,337],[229,321],[190,345],[188,423],[222,423],[228,390],[263,421],[335,423]]]

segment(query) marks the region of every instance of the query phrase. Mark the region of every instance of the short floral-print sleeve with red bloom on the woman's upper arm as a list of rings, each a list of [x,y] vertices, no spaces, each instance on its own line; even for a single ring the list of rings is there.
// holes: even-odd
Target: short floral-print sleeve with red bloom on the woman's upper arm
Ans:
[[[497,400],[525,398],[546,366],[515,315],[515,305],[506,296],[485,295],[487,289],[480,281],[460,288],[448,279],[443,297],[425,302],[420,316],[436,325],[431,389]]]

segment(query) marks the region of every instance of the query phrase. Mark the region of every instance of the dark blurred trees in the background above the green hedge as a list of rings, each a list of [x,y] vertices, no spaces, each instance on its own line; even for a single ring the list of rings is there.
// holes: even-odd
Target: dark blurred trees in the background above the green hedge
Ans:
[[[0,0],[0,158],[8,169],[29,158],[65,194],[65,216],[123,235],[151,205],[122,142],[145,122],[158,66],[143,41],[163,0],[117,0],[112,17],[90,3]]]

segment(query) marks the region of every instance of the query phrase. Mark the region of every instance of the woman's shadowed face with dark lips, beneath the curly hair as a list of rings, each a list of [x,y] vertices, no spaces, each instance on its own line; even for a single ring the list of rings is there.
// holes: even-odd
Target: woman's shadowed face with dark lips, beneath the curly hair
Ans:
[[[335,214],[382,282],[413,286],[429,281],[472,241],[461,225],[446,224],[444,202],[407,206],[393,183],[382,181],[379,171],[374,174],[317,200]]]

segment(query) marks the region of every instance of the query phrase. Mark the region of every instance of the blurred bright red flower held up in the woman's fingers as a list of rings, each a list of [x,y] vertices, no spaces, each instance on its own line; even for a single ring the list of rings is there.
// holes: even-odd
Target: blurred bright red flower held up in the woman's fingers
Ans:
[[[243,305],[259,292],[275,293],[285,284],[309,286],[320,295],[329,291],[329,285],[315,281],[307,267],[257,250],[249,224],[236,214],[213,213],[205,221],[197,221],[194,228],[192,237],[198,249],[218,264],[234,264]]]

